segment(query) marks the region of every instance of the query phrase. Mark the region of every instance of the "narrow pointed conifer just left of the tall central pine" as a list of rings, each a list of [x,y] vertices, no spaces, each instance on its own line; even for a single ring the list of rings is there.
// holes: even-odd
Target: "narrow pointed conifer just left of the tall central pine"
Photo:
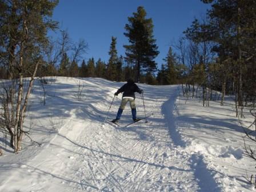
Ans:
[[[117,81],[117,65],[118,65],[118,55],[117,55],[117,38],[111,38],[111,45],[109,50],[109,63],[107,65],[107,79],[111,81]]]

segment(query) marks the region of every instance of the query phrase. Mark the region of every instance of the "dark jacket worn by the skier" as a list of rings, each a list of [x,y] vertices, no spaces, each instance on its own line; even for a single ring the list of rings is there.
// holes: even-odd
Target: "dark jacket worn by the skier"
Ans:
[[[127,81],[125,85],[123,85],[118,91],[115,93],[115,95],[118,95],[119,93],[123,92],[123,97],[133,97],[135,99],[135,92],[142,93],[142,90],[139,89],[139,87],[133,82],[133,81]]]

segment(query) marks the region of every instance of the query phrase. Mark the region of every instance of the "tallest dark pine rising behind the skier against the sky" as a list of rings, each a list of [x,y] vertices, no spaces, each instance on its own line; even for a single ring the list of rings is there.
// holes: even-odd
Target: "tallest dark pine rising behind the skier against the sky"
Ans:
[[[139,82],[141,73],[149,71],[153,73],[157,69],[154,58],[159,54],[158,46],[153,37],[153,21],[146,19],[146,11],[139,6],[133,17],[128,17],[129,24],[125,25],[130,45],[124,45],[126,49],[126,61],[132,62],[137,69],[136,81]]]

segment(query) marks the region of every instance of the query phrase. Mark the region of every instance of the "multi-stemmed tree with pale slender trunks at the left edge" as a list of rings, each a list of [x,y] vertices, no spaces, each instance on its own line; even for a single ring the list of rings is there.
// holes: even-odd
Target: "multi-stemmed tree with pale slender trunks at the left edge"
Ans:
[[[4,26],[0,31],[3,39],[0,50],[5,57],[9,80],[1,86],[0,121],[9,132],[14,153],[21,150],[26,134],[23,122],[35,75],[42,63],[42,47],[48,42],[47,31],[57,26],[50,19],[57,3],[47,0],[1,1],[0,15],[5,17],[0,19],[0,26]]]

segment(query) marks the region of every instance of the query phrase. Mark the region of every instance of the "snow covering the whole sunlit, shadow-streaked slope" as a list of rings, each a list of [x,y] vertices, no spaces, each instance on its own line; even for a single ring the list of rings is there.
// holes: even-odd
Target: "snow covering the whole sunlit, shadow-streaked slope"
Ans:
[[[77,99],[78,85],[83,85]],[[18,154],[0,138],[0,191],[255,191],[247,182],[255,162],[243,155],[243,129],[232,101],[203,107],[181,86],[144,90],[144,120],[132,121],[129,105],[120,127],[104,122],[117,113],[123,82],[101,78],[51,78],[35,82]],[[137,115],[145,117],[136,94]],[[250,117],[241,119],[250,124]],[[7,142],[9,142],[7,140]],[[250,145],[250,141],[246,141]],[[40,145],[38,145],[38,143]]]

